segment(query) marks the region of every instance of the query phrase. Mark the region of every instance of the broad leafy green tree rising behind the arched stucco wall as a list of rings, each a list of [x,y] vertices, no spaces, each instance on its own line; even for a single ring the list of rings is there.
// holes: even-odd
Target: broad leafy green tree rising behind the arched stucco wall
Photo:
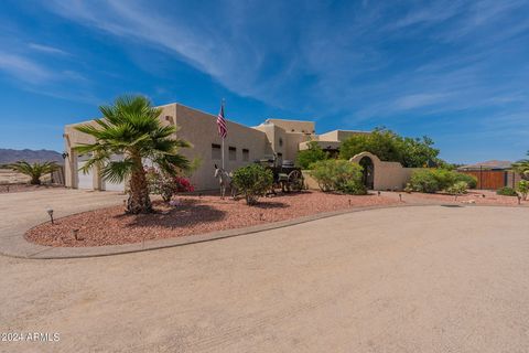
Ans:
[[[377,128],[368,135],[354,135],[339,148],[339,157],[350,159],[360,152],[371,152],[382,161],[399,162],[407,168],[440,164],[439,149],[433,148],[429,137],[402,138],[396,132]]]

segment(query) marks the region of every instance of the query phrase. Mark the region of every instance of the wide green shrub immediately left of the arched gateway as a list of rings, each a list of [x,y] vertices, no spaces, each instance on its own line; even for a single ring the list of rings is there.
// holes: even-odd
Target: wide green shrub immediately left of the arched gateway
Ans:
[[[357,163],[345,160],[324,160],[312,164],[311,175],[322,191],[341,191],[348,194],[366,194],[361,182],[363,169]]]

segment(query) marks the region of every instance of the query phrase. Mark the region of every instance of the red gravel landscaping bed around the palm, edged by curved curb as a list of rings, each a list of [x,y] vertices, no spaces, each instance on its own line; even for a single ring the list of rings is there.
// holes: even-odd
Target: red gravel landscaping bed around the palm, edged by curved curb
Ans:
[[[256,206],[247,206],[244,200],[220,200],[218,195],[185,195],[176,200],[181,204],[175,207],[155,202],[158,213],[150,215],[125,214],[122,205],[71,215],[57,220],[55,225],[50,222],[41,224],[25,236],[30,242],[47,246],[130,244],[247,227],[348,207],[398,203],[392,197],[315,191],[262,197]],[[73,229],[78,229],[77,236],[83,240],[75,240]]]

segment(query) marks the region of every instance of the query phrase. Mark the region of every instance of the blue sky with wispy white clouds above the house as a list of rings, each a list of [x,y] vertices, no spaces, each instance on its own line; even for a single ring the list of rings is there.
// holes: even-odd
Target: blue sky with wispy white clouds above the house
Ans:
[[[0,148],[62,147],[123,93],[228,119],[386,126],[452,162],[529,150],[529,2],[0,2]]]

